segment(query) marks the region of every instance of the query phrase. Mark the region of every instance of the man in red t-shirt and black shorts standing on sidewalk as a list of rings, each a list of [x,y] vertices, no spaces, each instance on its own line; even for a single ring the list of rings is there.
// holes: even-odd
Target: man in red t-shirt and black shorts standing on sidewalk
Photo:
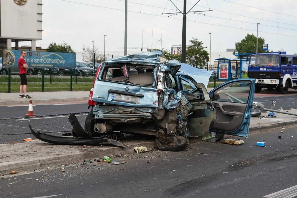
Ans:
[[[19,67],[19,75],[20,75],[20,98],[31,98],[31,96],[29,96],[27,94],[27,69],[28,69],[28,65],[26,64],[25,58],[26,57],[26,52],[25,51],[21,51],[20,52],[20,58],[18,60],[18,67]],[[24,94],[23,94],[24,92]]]

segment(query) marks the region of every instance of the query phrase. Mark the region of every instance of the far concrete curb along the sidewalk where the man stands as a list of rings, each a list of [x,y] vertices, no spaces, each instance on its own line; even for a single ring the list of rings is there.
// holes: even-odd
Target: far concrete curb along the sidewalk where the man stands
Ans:
[[[81,97],[81,98],[59,98],[59,99],[42,99],[42,100],[34,100],[31,99],[33,104],[41,104],[41,103],[51,103],[51,102],[78,102],[89,100],[88,97]],[[14,100],[14,101],[2,101],[0,105],[13,105],[13,104],[29,104],[28,99],[24,100]]]

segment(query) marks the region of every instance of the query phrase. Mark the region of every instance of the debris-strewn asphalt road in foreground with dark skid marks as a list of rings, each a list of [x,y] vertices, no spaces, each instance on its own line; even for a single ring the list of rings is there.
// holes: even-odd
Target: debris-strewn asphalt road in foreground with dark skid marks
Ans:
[[[198,142],[182,152],[113,156],[119,165],[63,164],[1,179],[0,197],[267,197],[297,185],[296,137],[294,127],[275,129],[238,146]]]

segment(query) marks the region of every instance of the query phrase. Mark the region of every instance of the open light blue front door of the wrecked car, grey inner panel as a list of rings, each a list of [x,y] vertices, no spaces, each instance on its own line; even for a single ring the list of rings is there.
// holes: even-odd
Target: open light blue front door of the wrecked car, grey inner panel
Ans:
[[[208,94],[216,117],[209,131],[247,137],[255,92],[255,79],[230,80]]]

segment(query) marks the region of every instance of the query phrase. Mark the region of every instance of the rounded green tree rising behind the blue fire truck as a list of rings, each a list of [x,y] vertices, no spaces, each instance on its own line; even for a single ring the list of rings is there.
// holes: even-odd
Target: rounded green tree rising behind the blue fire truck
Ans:
[[[262,50],[265,40],[262,37],[258,37],[258,53],[269,52]],[[242,53],[254,53],[257,48],[257,37],[254,34],[247,34],[244,39],[241,39],[240,42],[235,43],[235,51],[238,51],[238,54]],[[233,52],[234,54],[234,52]]]

